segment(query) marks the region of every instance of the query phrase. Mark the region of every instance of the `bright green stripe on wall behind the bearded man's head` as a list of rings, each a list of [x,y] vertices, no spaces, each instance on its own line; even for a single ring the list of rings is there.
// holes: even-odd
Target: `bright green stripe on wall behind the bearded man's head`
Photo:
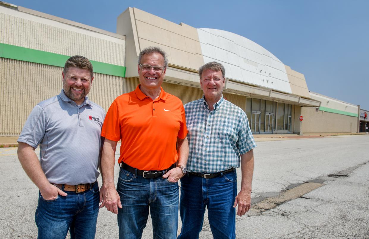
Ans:
[[[0,57],[64,67],[65,61],[70,56],[0,43]],[[125,66],[117,66],[93,60],[91,63],[95,73],[125,77]]]

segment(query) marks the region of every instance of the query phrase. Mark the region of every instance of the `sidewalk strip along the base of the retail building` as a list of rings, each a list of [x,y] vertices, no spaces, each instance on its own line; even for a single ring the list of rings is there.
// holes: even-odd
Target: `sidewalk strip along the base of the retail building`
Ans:
[[[321,138],[327,136],[337,135],[355,135],[366,133],[304,133],[303,136],[297,134],[254,134],[256,142],[261,141],[276,141],[276,140],[291,140],[291,139],[303,139],[303,138]],[[0,136],[0,148],[18,147],[18,136]]]

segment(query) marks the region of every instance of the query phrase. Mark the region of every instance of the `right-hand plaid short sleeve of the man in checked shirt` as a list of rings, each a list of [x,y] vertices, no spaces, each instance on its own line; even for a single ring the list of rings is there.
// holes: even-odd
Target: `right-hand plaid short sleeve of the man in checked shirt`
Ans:
[[[239,154],[246,154],[248,151],[256,148],[254,137],[252,136],[251,129],[249,126],[249,121],[245,112],[241,112],[240,117],[240,127],[238,131],[238,141],[237,141],[237,148]]]

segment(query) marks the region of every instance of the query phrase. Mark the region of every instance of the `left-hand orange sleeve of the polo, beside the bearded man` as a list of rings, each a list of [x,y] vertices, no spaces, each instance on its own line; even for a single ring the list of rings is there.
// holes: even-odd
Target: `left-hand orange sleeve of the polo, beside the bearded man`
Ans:
[[[106,113],[101,136],[108,140],[120,140],[119,109],[116,101],[113,101]]]

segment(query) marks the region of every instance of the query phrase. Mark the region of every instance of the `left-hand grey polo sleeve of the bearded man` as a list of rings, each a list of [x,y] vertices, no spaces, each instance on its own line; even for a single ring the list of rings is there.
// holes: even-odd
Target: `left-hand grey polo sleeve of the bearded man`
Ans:
[[[44,138],[46,131],[45,111],[41,106],[36,105],[28,116],[22,132],[18,138],[18,142],[26,143],[33,148]]]

